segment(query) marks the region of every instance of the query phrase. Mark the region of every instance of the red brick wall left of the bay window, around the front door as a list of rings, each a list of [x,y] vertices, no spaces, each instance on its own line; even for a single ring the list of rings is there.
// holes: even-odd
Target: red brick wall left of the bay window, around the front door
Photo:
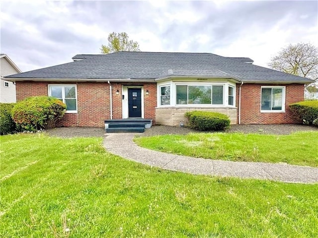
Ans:
[[[48,95],[48,84],[76,84],[78,113],[66,113],[57,126],[104,127],[104,120],[110,119],[110,87],[106,82],[16,82],[16,99]],[[127,84],[125,84],[127,85]],[[129,85],[137,85],[129,84]],[[144,115],[155,123],[157,106],[157,84],[144,83]],[[116,90],[119,91],[118,95]],[[122,84],[112,83],[113,119],[122,118]],[[149,95],[146,95],[146,90]]]

